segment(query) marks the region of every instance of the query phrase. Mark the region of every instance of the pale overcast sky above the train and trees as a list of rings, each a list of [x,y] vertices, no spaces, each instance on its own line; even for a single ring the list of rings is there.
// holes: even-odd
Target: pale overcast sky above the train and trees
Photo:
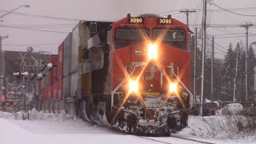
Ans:
[[[255,0],[214,0],[212,2],[235,13],[256,14]],[[202,0],[0,0],[0,16],[6,13],[4,10],[13,10],[25,4],[29,4],[30,8],[22,7],[15,11],[25,14],[8,14],[1,19],[3,22],[0,22],[0,34],[1,36],[9,36],[9,38],[4,39],[2,42],[3,50],[22,51],[26,50],[27,46],[33,46],[34,50],[51,51],[56,54],[58,43],[61,43],[62,40],[66,38],[67,33],[70,32],[78,22],[74,19],[116,21],[126,17],[127,13],[130,13],[132,16],[151,13],[160,14],[162,17],[166,17],[167,14],[172,14],[173,18],[186,22],[186,15],[179,13],[178,10],[189,8],[198,10],[197,13],[190,14],[190,29],[194,31],[194,26],[202,23]],[[220,10],[216,6],[207,6],[208,10],[214,10],[208,12],[207,24],[238,25],[244,22],[256,24],[256,17],[230,14],[229,12]],[[28,14],[68,19],[40,18]],[[55,32],[20,30],[3,26],[50,30]],[[245,44],[246,38],[242,37],[242,34],[234,34],[245,33],[245,29],[243,28],[207,28],[207,33],[211,35],[217,34],[215,42],[219,46],[217,46],[218,49],[216,48],[215,52],[218,58],[223,58],[226,51],[220,46],[227,49],[230,42],[233,43],[233,46],[236,45],[236,42],[240,41]],[[256,27],[250,28],[250,34],[256,34]],[[240,37],[219,38],[230,36]],[[254,41],[256,41],[255,36],[250,36],[249,43]]]

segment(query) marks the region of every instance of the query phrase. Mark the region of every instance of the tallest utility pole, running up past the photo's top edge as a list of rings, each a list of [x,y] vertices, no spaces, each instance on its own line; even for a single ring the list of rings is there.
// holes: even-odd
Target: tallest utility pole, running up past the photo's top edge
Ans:
[[[204,86],[204,74],[205,74],[205,58],[206,58],[206,0],[203,0],[203,13],[202,13],[202,75],[201,75],[201,98],[200,98],[200,115],[202,116],[203,106],[203,86]]]

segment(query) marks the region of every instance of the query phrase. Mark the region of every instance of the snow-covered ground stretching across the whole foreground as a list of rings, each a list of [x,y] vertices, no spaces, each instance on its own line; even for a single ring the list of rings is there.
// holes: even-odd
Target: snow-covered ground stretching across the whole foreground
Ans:
[[[218,117],[208,117],[210,121]],[[30,120],[22,120],[22,113],[10,114],[0,112],[1,144],[142,144],[142,143],[256,143],[255,136],[230,139],[219,133],[212,138],[207,126],[200,117],[190,117],[189,127],[174,137],[139,137],[110,130],[106,127],[83,122],[80,118],[71,118],[66,114],[44,114],[32,110]],[[218,127],[218,126],[217,126]],[[223,137],[221,137],[221,135]],[[192,139],[194,141],[188,140]],[[218,138],[218,139],[217,139]],[[200,142],[198,142],[200,141]]]

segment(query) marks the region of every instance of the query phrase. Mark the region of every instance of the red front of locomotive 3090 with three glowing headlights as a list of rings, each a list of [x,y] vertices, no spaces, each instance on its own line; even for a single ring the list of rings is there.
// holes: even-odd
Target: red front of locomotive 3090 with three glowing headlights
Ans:
[[[115,126],[132,133],[182,130],[191,97],[188,27],[170,17],[128,15],[111,32]]]

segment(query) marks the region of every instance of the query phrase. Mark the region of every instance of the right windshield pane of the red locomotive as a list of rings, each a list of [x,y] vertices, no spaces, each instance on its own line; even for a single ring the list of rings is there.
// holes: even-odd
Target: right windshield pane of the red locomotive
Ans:
[[[153,39],[159,38],[161,34],[164,34],[162,42],[186,50],[186,33],[184,30],[154,29],[152,34]]]

